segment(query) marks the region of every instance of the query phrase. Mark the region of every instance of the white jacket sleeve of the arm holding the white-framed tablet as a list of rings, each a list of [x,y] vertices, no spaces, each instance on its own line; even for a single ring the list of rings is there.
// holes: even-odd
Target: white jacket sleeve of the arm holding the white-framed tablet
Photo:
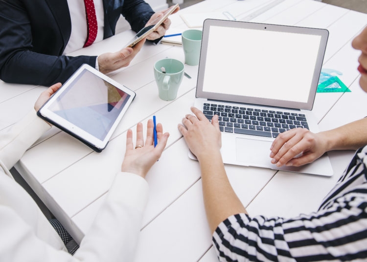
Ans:
[[[0,133],[0,159],[7,169],[14,166],[23,153],[51,126],[32,109],[9,131]]]

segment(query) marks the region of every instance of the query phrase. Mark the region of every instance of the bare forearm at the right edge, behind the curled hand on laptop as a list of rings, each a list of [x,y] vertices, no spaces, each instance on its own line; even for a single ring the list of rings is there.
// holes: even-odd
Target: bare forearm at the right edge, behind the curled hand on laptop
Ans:
[[[367,118],[319,133],[326,142],[326,151],[356,150],[367,145]]]

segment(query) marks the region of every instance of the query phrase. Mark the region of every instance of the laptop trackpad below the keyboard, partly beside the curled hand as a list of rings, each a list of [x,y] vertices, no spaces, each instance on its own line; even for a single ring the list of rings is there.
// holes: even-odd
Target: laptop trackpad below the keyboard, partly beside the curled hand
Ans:
[[[236,138],[237,161],[249,163],[250,166],[272,166],[270,163],[270,146],[272,141],[250,138]]]

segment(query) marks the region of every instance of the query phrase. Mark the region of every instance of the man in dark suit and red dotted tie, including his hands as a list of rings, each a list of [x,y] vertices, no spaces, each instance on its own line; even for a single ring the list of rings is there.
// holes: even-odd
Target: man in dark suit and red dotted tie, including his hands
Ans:
[[[0,0],[0,79],[50,86],[82,64],[102,73],[128,66],[145,39],[98,58],[65,54],[113,36],[121,14],[138,32],[163,12],[154,13],[144,0]],[[166,19],[147,39],[157,43],[170,23]]]

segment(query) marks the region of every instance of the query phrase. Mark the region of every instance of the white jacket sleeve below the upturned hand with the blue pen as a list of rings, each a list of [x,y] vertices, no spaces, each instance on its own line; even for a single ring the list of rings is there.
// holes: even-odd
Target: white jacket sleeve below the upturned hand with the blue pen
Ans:
[[[147,200],[148,183],[144,178],[118,173],[74,258],[93,262],[133,261]]]

